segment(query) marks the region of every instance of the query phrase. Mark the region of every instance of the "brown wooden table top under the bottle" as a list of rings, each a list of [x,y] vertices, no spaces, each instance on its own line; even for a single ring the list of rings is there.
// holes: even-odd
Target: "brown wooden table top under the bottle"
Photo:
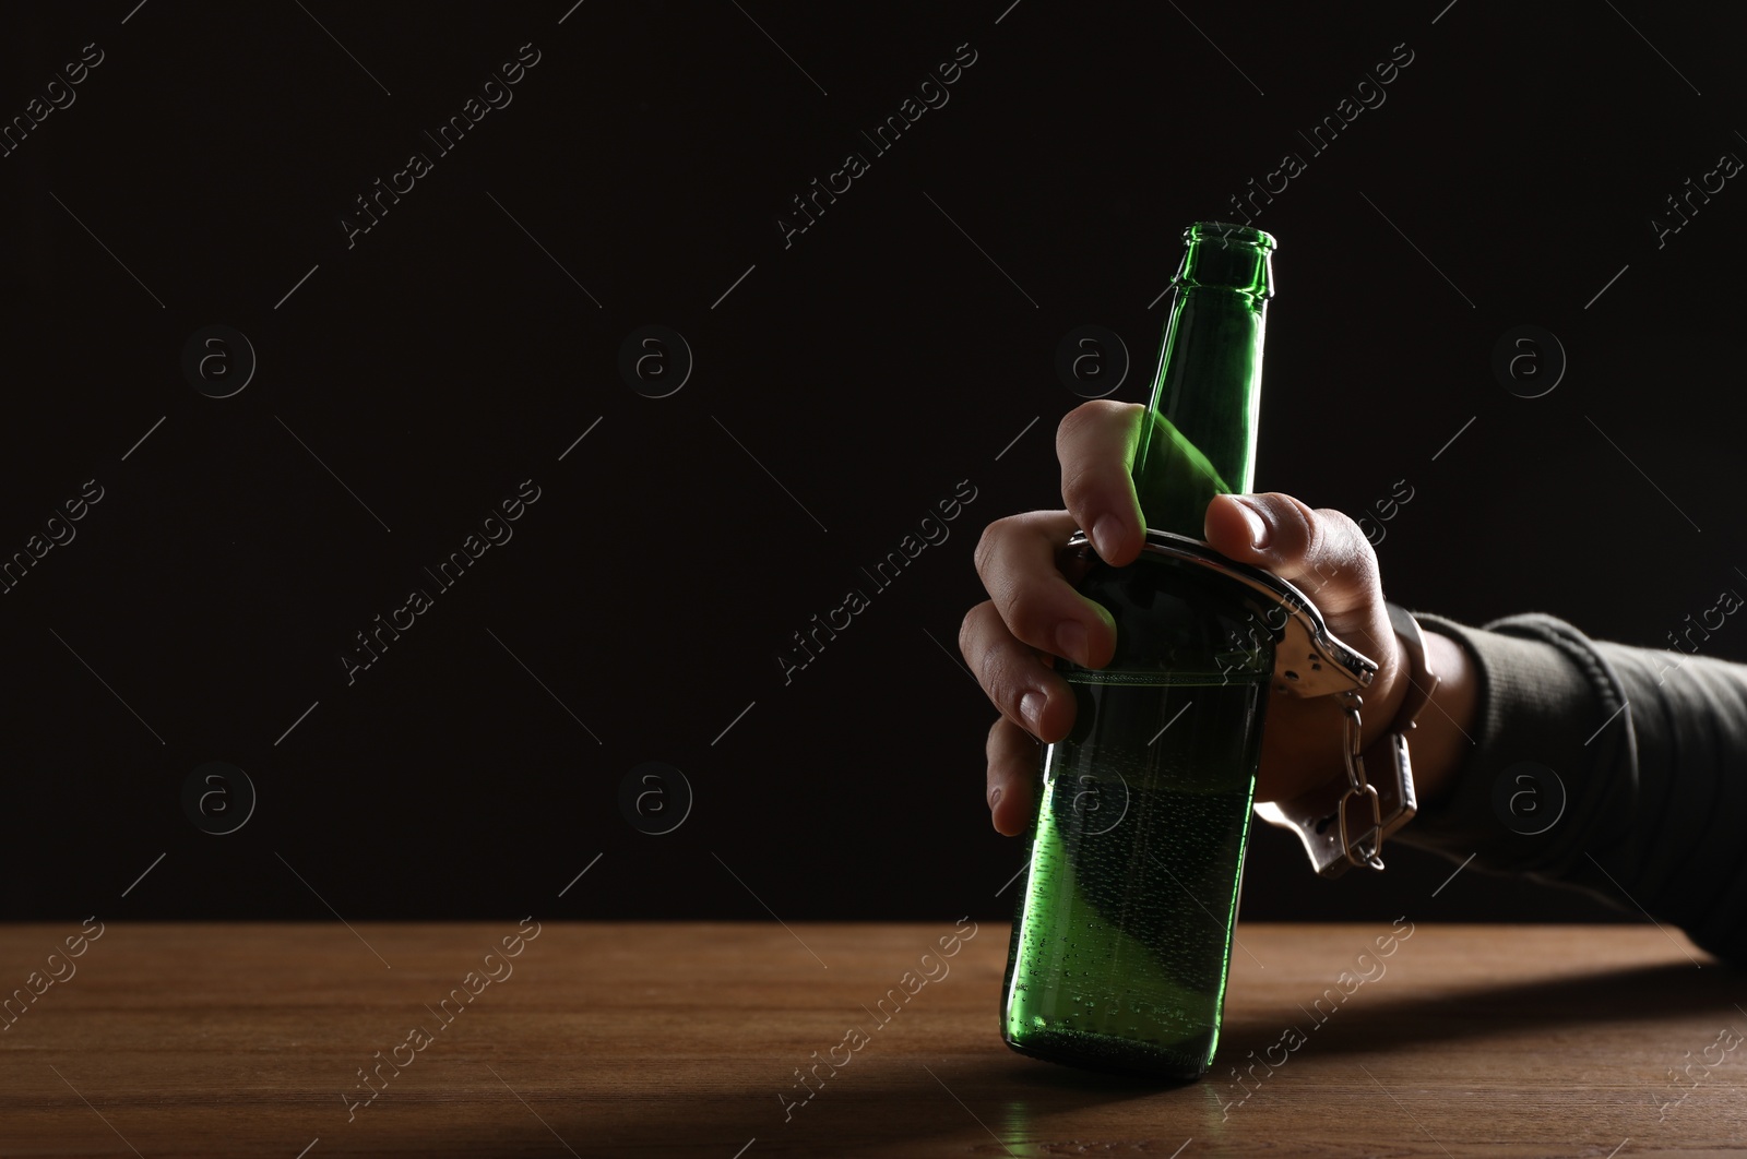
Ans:
[[[1001,1044],[991,923],[10,925],[0,1156],[1747,1154],[1747,976],[1649,925],[1375,957],[1408,929],[1242,925],[1214,1073],[1150,1087]]]

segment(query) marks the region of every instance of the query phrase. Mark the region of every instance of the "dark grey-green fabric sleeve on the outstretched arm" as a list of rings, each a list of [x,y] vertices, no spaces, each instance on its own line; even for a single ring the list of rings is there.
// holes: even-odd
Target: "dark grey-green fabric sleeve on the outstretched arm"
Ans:
[[[1415,616],[1476,662],[1476,716],[1452,785],[1396,840],[1585,890],[1747,964],[1747,665],[1592,641],[1544,613]],[[1525,761],[1565,789],[1544,833],[1501,810]]]

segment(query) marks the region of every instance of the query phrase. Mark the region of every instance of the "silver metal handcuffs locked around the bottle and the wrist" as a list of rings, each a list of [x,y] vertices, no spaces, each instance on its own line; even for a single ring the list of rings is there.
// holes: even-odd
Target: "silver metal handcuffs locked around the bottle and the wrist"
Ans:
[[[1069,546],[1083,541],[1083,532],[1078,532]],[[1359,689],[1370,688],[1377,677],[1375,660],[1343,644],[1329,632],[1310,597],[1274,573],[1239,564],[1200,539],[1167,531],[1148,529],[1143,550],[1216,571],[1247,586],[1267,606],[1265,623],[1275,632],[1274,691],[1298,698],[1340,696],[1345,775],[1289,801],[1258,803],[1254,812],[1272,826],[1295,831],[1310,866],[1324,878],[1338,878],[1352,866],[1382,869],[1384,840],[1413,820],[1417,810],[1406,733],[1417,728],[1415,717],[1438,688],[1438,677],[1426,662],[1426,635],[1419,621],[1399,604],[1384,600],[1408,660],[1408,691],[1382,738],[1391,758],[1389,768],[1378,770],[1382,775],[1373,778],[1364,768],[1359,719],[1364,698]]]

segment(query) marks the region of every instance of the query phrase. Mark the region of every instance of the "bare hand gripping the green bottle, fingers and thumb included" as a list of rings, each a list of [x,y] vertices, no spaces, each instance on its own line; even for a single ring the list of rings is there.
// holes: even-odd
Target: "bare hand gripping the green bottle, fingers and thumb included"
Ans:
[[[1001,710],[989,730],[987,791],[991,819],[1005,834],[1031,820],[1036,740],[1062,740],[1074,723],[1074,696],[1052,672],[1053,658],[1101,669],[1115,655],[1115,621],[1074,592],[1078,574],[1062,571],[1069,566],[1064,546],[1076,527],[1088,527],[1106,562],[1123,566],[1139,557],[1144,536],[1130,470],[1144,415],[1137,403],[1108,400],[1071,410],[1055,433],[1067,510],[996,520],[977,545],[977,574],[992,599],[964,616],[959,649]],[[1295,583],[1336,637],[1378,663],[1363,693],[1363,745],[1370,749],[1394,723],[1408,676],[1384,607],[1377,553],[1364,534],[1333,508],[1312,510],[1270,492],[1216,496],[1204,538],[1225,557]],[[1343,775],[1336,698],[1270,695],[1256,799],[1289,799]]]

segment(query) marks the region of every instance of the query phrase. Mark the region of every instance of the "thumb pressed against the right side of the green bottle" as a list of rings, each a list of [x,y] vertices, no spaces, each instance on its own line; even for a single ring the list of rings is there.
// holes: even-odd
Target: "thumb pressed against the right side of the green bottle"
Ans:
[[[1336,632],[1342,623],[1366,634],[1387,623],[1377,552],[1343,511],[1310,510],[1279,492],[1214,496],[1205,536],[1221,555],[1296,585]]]

